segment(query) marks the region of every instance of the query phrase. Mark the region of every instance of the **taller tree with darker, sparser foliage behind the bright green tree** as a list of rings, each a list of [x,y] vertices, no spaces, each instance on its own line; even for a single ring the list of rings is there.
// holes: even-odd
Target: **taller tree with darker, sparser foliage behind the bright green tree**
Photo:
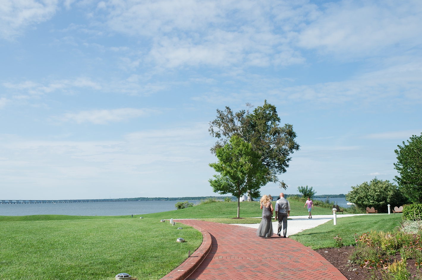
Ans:
[[[246,103],[250,109],[252,106]],[[279,181],[277,175],[285,173],[289,167],[290,155],[299,149],[296,143],[296,133],[290,124],[280,125],[280,117],[274,105],[267,103],[257,107],[253,112],[249,109],[234,113],[230,107],[225,110],[217,109],[216,119],[210,122],[208,131],[218,138],[211,152],[223,147],[232,136],[239,136],[243,141],[250,143],[252,149],[259,155],[259,160],[268,168],[265,175],[268,182],[280,183],[286,189],[287,185]],[[259,193],[251,192],[252,197]]]

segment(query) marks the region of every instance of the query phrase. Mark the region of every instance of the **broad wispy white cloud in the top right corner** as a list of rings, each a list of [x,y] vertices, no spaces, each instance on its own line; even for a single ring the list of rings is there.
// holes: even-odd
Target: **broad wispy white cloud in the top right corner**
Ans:
[[[340,1],[299,32],[298,45],[341,56],[381,53],[394,44],[410,48],[422,43],[420,1]]]

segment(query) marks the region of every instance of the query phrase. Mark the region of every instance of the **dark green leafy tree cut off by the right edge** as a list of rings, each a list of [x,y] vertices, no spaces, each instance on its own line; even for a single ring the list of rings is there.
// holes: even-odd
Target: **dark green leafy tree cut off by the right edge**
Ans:
[[[412,135],[407,144],[397,145],[394,152],[397,155],[397,163],[394,168],[400,173],[395,176],[395,181],[401,191],[411,202],[422,201],[422,133],[420,136]]]

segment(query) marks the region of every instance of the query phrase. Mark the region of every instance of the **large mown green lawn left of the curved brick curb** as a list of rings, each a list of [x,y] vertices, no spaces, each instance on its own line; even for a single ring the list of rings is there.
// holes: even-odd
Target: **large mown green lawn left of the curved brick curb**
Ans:
[[[202,243],[196,229],[179,226],[128,216],[0,217],[0,279],[160,279]]]

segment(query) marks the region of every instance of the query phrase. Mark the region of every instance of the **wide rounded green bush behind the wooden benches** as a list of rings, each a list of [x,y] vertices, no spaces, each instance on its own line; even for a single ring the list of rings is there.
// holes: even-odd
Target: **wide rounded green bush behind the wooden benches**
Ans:
[[[376,177],[369,184],[363,182],[356,187],[352,187],[352,191],[346,194],[346,200],[363,210],[366,207],[373,207],[378,212],[384,213],[388,210],[388,204],[394,208],[407,202],[406,197],[395,184],[388,180],[378,180]]]

